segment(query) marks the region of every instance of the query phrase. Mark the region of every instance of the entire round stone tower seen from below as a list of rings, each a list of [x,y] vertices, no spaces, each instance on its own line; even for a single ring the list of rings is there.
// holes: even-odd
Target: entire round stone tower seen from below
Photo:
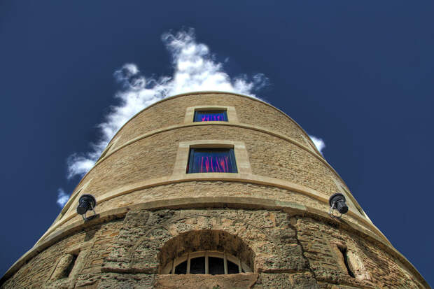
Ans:
[[[328,213],[335,192],[342,218]],[[83,194],[92,220],[76,213]],[[1,288],[429,286],[288,115],[195,92],[119,130]]]

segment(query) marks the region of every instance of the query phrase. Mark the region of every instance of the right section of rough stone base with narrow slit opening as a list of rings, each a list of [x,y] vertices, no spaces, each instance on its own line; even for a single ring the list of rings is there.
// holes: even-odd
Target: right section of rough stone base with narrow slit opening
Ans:
[[[318,281],[361,288],[424,288],[404,266],[399,266],[396,258],[373,241],[310,218],[293,218],[291,223]],[[339,250],[343,246],[346,253]]]

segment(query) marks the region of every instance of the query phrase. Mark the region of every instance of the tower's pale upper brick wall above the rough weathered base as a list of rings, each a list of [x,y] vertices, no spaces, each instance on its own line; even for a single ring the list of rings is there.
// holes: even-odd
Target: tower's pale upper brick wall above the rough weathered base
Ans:
[[[228,111],[228,122],[193,122],[195,108],[225,109]],[[179,151],[182,143],[188,141],[241,143],[245,155],[242,165],[246,169],[239,171],[239,174],[186,174],[185,168],[176,166],[182,157],[181,164],[185,166],[187,163],[185,154],[188,150],[184,155],[180,155]],[[241,164],[238,166],[241,167]],[[188,197],[187,190],[169,190],[165,195],[148,192],[153,187],[186,182],[192,178],[232,181],[235,187],[239,185],[235,182],[244,182],[289,189],[316,198],[316,204],[310,204],[317,209],[326,209],[328,197],[334,192],[345,190],[344,194],[351,195],[337,173],[314,149],[307,134],[278,109],[237,94],[186,94],[146,108],[120,129],[101,159],[80,181],[71,195],[71,201],[41,241],[80,220],[71,204],[75,204],[83,193],[97,197],[99,212],[102,212],[131,204],[120,195],[134,192],[141,192],[141,199],[146,198],[146,202],[164,200],[169,195],[172,198]],[[229,183],[227,185],[230,186]],[[196,196],[206,192],[196,191]],[[214,196],[228,195],[225,190],[214,193]],[[257,196],[260,197],[260,194]],[[281,197],[276,196],[275,199]],[[384,238],[351,200],[349,206],[351,212],[348,218],[352,222]]]

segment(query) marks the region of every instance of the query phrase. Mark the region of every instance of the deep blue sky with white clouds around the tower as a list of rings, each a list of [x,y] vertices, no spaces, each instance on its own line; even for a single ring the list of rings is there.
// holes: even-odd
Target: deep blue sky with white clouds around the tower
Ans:
[[[0,1],[0,274],[131,115],[225,90],[322,141],[433,286],[433,15],[432,1]]]

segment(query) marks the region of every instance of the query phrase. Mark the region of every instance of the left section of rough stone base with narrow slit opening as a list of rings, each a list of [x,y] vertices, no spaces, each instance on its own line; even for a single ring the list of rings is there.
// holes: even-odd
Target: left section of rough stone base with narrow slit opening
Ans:
[[[29,260],[1,287],[13,289],[73,288],[76,283],[80,285],[96,282],[101,274],[102,262],[94,261],[104,260],[109,254],[113,239],[123,225],[122,221],[115,220],[104,225],[92,226],[83,232],[77,232],[58,241]],[[64,255],[70,255],[71,252],[78,254],[78,257],[69,276],[57,280],[54,277],[51,278],[58,261]]]

